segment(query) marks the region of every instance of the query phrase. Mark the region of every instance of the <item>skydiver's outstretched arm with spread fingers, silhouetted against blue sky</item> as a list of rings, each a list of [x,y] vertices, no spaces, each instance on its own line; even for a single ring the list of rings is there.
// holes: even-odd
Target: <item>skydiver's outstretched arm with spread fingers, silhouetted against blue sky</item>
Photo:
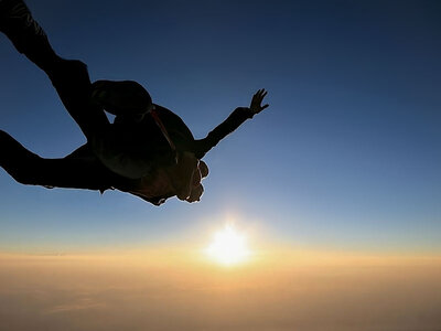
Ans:
[[[261,105],[267,92],[265,88],[259,89],[251,99],[249,107],[236,108],[226,120],[218,125],[208,136],[204,139],[195,141],[195,156],[197,159],[202,159],[205,153],[215,147],[222,139],[236,130],[244,121],[252,118],[256,114],[259,114],[266,109],[269,105]]]

